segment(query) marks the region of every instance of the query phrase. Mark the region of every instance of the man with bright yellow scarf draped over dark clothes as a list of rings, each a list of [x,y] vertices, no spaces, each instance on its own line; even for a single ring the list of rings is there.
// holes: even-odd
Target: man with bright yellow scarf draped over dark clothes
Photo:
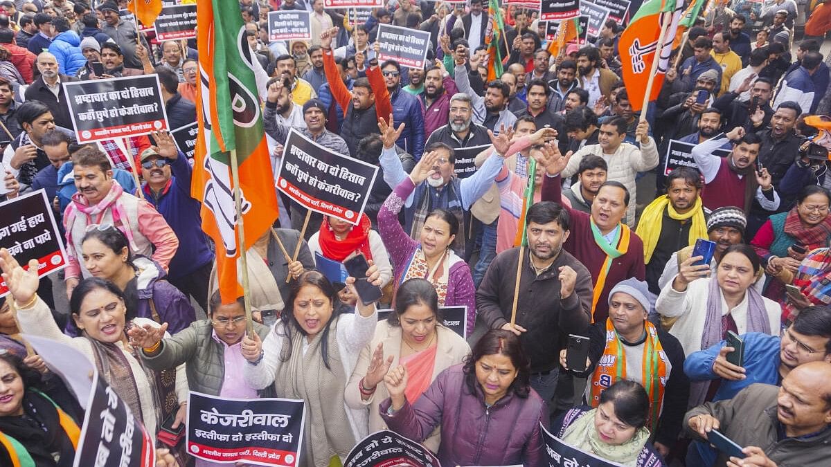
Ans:
[[[691,167],[678,167],[666,176],[666,195],[643,209],[635,233],[643,241],[649,291],[661,293],[658,278],[666,261],[679,249],[707,235],[701,204],[701,175]]]

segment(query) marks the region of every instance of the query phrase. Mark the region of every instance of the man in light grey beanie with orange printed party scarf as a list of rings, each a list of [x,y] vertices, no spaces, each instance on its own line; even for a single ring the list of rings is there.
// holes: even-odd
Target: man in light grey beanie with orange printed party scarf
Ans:
[[[602,392],[627,379],[648,388],[647,428],[655,450],[665,459],[681,432],[690,381],[683,371],[684,349],[676,337],[649,322],[655,296],[647,283],[629,278],[609,292],[609,317],[589,328],[590,344],[583,368],[568,367],[568,352],[560,351],[560,365],[576,376],[589,377],[583,403],[597,408]],[[619,358],[620,365],[598,365],[603,358]]]

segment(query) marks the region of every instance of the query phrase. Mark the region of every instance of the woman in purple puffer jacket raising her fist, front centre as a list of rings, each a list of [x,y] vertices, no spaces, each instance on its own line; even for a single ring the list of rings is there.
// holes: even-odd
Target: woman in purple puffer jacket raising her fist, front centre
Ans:
[[[418,441],[440,425],[442,465],[542,465],[539,424],[548,426],[548,408],[531,389],[529,365],[519,337],[492,329],[464,365],[442,371],[413,405],[405,396],[406,368],[390,371],[381,417]]]

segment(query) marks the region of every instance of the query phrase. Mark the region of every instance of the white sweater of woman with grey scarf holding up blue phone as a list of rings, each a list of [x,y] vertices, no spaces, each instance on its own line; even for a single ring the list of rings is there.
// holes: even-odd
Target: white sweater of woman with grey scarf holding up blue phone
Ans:
[[[674,281],[675,278],[673,277],[672,280]],[[716,279],[696,279],[686,287],[686,292],[678,292],[672,288],[672,283],[668,283],[665,288],[661,289],[661,295],[658,296],[658,301],[655,302],[655,309],[661,315],[678,317],[678,321],[672,326],[670,334],[681,342],[685,355],[704,350],[701,348],[701,337],[704,335],[707,296],[711,280],[715,281]],[[739,334],[747,332],[747,293],[732,311],[730,307],[727,307],[721,289],[719,289],[719,298],[721,300],[721,316],[730,312]],[[779,307],[779,303],[770,300],[770,298],[762,297],[762,301],[765,302],[765,310],[768,312],[770,330],[774,335],[778,334],[782,308]]]

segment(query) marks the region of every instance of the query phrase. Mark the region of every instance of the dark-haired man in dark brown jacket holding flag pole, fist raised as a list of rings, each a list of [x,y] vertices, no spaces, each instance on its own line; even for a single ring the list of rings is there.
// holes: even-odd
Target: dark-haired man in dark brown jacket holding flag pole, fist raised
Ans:
[[[519,247],[499,253],[476,291],[476,310],[487,327],[519,336],[531,363],[531,387],[547,404],[557,389],[561,336],[584,332],[591,316],[592,276],[563,250],[571,234],[569,218],[568,211],[552,201],[532,205],[526,218],[528,248],[523,258],[519,258]]]

